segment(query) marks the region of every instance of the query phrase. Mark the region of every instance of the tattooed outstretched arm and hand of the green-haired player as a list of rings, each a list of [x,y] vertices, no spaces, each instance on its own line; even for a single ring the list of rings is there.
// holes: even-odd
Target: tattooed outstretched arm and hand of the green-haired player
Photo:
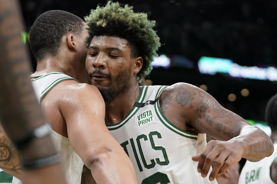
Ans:
[[[179,117],[175,122],[179,128],[206,133],[218,140],[210,141],[200,155],[192,157],[199,162],[197,170],[202,177],[207,176],[214,160],[210,180],[241,158],[255,162],[273,153],[273,143],[261,129],[223,108],[214,97],[193,85],[172,85],[163,91],[161,98],[164,114]],[[166,104],[170,108],[166,109]]]

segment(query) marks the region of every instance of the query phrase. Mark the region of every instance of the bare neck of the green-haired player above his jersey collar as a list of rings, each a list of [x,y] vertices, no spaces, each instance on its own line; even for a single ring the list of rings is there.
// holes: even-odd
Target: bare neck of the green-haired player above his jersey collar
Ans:
[[[141,87],[133,83],[123,94],[117,95],[111,103],[106,105],[106,124],[115,124],[125,118],[139,97]]]

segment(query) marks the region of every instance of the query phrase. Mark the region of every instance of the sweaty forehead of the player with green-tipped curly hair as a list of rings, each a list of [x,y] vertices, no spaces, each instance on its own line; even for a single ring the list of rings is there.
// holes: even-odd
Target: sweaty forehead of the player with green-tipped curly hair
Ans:
[[[113,36],[94,36],[89,44],[89,47],[97,47],[99,49],[118,48],[120,50],[128,50],[129,45],[126,39]]]

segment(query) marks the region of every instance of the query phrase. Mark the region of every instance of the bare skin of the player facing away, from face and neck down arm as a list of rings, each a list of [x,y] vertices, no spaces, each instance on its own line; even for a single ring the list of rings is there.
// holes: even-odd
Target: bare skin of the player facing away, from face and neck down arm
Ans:
[[[42,98],[42,109],[52,129],[68,137],[98,184],[137,184],[131,160],[105,125],[99,90],[86,84],[87,35],[85,29],[81,35],[65,34],[58,54],[38,61],[33,77],[59,71],[81,82],[65,80],[55,85]]]

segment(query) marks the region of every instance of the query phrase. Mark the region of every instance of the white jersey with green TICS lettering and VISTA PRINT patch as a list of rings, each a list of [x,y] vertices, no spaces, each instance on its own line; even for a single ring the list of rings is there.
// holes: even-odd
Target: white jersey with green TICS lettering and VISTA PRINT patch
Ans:
[[[158,97],[165,88],[143,86],[129,114],[108,129],[130,157],[139,184],[217,184],[202,178],[191,159],[206,146],[206,135],[183,131],[163,115]]]

